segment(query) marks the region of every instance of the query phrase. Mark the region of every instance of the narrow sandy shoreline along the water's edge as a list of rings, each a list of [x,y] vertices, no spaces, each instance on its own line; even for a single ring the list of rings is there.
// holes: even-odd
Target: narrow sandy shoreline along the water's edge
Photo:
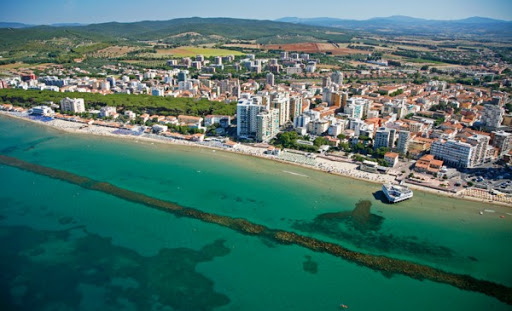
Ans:
[[[113,128],[101,127],[101,126],[97,126],[97,125],[85,125],[86,127],[84,127],[84,124],[81,124],[81,123],[74,123],[74,122],[58,120],[58,119],[53,119],[52,121],[49,121],[49,122],[41,122],[41,121],[29,119],[25,116],[20,116],[20,115],[16,115],[13,113],[9,113],[6,111],[0,111],[0,115],[10,117],[13,119],[31,122],[33,124],[43,125],[43,126],[46,126],[46,127],[58,130],[58,131],[62,131],[65,133],[79,134],[79,135],[95,135],[95,136],[100,136],[100,137],[108,137],[108,138],[112,138],[112,139],[123,139],[126,141],[132,141],[132,142],[143,141],[143,142],[148,142],[148,143],[152,143],[152,144],[156,143],[156,144],[161,144],[161,145],[176,145],[176,146],[206,148],[206,149],[215,150],[215,151],[221,151],[221,152],[238,154],[238,155],[247,156],[247,157],[255,157],[255,158],[259,158],[259,159],[275,161],[275,162],[278,162],[281,164],[293,165],[293,166],[297,166],[297,167],[315,170],[317,172],[328,173],[331,175],[355,179],[358,181],[368,182],[368,183],[372,183],[372,184],[382,185],[383,183],[387,183],[387,182],[391,182],[391,181],[395,180],[395,177],[391,176],[391,175],[373,176],[375,174],[355,171],[355,167],[357,167],[357,165],[352,164],[352,163],[337,162],[337,161],[331,161],[331,160],[327,160],[327,159],[318,159],[317,158],[318,161],[316,161],[316,165],[309,165],[309,164],[305,164],[305,163],[293,162],[291,160],[280,159],[280,158],[277,158],[276,156],[264,155],[261,152],[261,150],[263,150],[262,148],[248,146],[248,145],[239,145],[240,148],[228,149],[228,148],[216,147],[216,146],[211,146],[211,145],[206,145],[206,144],[201,144],[201,143],[196,143],[196,142],[181,141],[181,140],[175,140],[175,139],[169,139],[169,138],[159,139],[159,138],[145,137],[145,136],[114,134],[113,131],[115,129],[113,129]],[[341,172],[337,172],[336,170],[339,170]],[[512,207],[512,205],[507,202],[488,200],[488,199],[473,197],[473,196],[469,196],[469,195],[464,195],[462,193],[448,193],[448,192],[444,192],[441,190],[431,189],[431,188],[428,188],[425,186],[410,184],[407,182],[405,182],[405,184],[409,188],[416,190],[416,191],[421,191],[421,192],[426,192],[426,193],[436,194],[436,195],[442,195],[442,196],[450,197],[453,199],[468,200],[468,201],[472,201],[472,202]],[[462,192],[466,192],[466,191],[462,191]]]

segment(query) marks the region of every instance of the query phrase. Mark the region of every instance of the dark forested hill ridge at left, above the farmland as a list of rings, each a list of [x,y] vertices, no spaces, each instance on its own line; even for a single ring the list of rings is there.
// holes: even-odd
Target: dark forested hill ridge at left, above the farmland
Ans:
[[[3,25],[3,26],[2,26]],[[3,27],[3,28],[2,28]],[[22,48],[31,41],[68,38],[76,42],[159,41],[167,44],[204,44],[230,40],[256,40],[262,44],[297,42],[349,42],[352,33],[332,28],[269,20],[235,18],[178,18],[167,21],[55,24],[31,26],[0,24],[0,48]]]

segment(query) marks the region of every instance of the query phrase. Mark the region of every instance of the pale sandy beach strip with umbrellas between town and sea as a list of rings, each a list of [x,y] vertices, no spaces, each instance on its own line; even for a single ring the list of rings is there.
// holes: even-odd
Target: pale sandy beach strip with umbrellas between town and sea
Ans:
[[[130,141],[145,141],[149,143],[158,143],[158,144],[172,144],[172,145],[185,145],[191,147],[200,147],[200,148],[209,148],[213,150],[219,150],[224,152],[237,153],[245,156],[252,156],[263,158],[267,160],[278,161],[285,164],[297,165],[309,169],[315,169],[319,171],[323,171],[330,174],[340,175],[344,177],[349,177],[353,179],[358,179],[366,182],[372,182],[377,184],[384,184],[389,182],[394,182],[395,177],[392,175],[383,175],[383,174],[374,174],[369,172],[363,172],[357,169],[358,164],[349,163],[349,162],[341,162],[341,161],[331,161],[325,158],[317,157],[315,159],[306,158],[302,155],[295,153],[287,153],[282,152],[279,156],[267,155],[264,152],[265,148],[254,147],[250,145],[242,145],[238,144],[233,148],[228,148],[224,146],[222,143],[218,142],[191,142],[185,140],[178,140],[173,138],[168,138],[164,136],[157,136],[155,134],[143,134],[139,136],[134,135],[122,135],[115,134],[114,131],[117,129],[97,126],[97,125],[86,125],[82,123],[75,123],[70,121],[64,121],[59,119],[53,119],[48,122],[41,122],[27,118],[21,114],[10,113],[6,111],[0,111],[1,115],[5,115],[7,117],[12,117],[40,125],[46,125],[52,127],[57,130],[61,130],[68,133],[73,134],[89,134],[89,135],[97,135],[103,137],[112,137],[112,138],[121,138],[127,139]],[[482,195],[480,192],[470,191],[469,189],[460,191],[458,193],[449,193],[445,191],[440,191],[420,185],[414,185],[405,183],[408,187],[414,190],[434,193],[437,195],[443,195],[447,197],[471,200],[476,202],[488,203],[488,204],[498,204],[503,206],[512,206],[512,198],[510,197],[497,197],[494,195]]]

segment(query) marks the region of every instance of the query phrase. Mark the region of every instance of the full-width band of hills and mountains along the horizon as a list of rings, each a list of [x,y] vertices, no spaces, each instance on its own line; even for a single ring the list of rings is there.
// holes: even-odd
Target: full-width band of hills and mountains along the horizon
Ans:
[[[342,31],[340,31],[340,29]],[[512,40],[512,22],[484,17],[439,21],[408,16],[377,17],[369,20],[286,17],[277,21],[235,18],[178,18],[167,21],[101,23],[82,25],[60,23],[27,25],[0,23],[0,48],[26,49],[29,42],[67,38],[81,42],[158,41],[171,45],[221,43],[255,40],[260,44],[299,42],[350,42],[361,32],[391,35],[463,37],[480,35]],[[56,42],[54,42],[56,44]],[[50,47],[47,47],[50,49]],[[69,48],[67,46],[60,49]]]

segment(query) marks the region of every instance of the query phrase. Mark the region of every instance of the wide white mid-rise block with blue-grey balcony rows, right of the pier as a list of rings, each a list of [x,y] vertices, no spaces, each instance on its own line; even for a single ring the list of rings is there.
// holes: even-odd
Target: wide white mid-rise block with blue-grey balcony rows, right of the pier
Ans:
[[[455,140],[437,140],[432,143],[430,153],[445,164],[454,167],[472,167],[474,147]]]

